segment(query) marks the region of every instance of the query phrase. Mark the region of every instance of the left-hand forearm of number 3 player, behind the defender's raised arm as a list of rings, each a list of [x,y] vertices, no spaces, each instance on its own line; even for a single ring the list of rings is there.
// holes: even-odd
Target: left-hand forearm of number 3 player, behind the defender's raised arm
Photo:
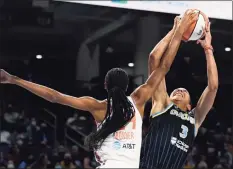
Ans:
[[[161,58],[167,49],[175,30],[172,29],[151,51],[149,55],[149,72],[152,73],[158,68]]]

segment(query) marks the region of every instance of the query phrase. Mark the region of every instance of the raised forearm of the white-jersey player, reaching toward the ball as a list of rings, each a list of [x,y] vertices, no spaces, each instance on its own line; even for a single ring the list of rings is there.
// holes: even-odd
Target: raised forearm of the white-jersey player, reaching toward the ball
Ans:
[[[177,51],[180,47],[182,35],[183,35],[183,30],[182,30],[182,28],[178,27],[174,32],[174,35],[173,35],[173,37],[172,37],[172,39],[167,47],[167,50],[164,53],[164,56],[162,57],[160,67],[166,68],[168,70],[170,69],[170,67],[175,59],[175,56],[177,54]]]

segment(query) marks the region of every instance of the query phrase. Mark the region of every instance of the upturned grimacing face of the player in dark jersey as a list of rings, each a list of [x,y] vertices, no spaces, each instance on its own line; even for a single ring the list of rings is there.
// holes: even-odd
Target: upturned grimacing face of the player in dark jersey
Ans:
[[[177,100],[183,104],[190,103],[190,95],[189,92],[185,88],[175,89],[170,96],[171,100]]]

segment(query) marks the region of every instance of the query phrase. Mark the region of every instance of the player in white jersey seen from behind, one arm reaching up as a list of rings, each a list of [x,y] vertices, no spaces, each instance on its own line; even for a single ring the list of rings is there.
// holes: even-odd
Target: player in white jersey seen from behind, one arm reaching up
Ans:
[[[194,16],[194,13],[188,15],[190,19]],[[171,40],[169,47],[175,50],[168,50],[156,71],[129,97],[125,95],[128,75],[120,68],[108,71],[105,77],[108,98],[102,101],[88,96],[68,96],[10,75],[4,70],[0,70],[0,82],[18,85],[52,103],[89,111],[97,123],[97,131],[88,136],[86,143],[94,149],[95,157],[100,163],[99,168],[139,168],[144,106],[170,69],[182,31],[189,27],[189,22],[186,21],[187,18],[180,24],[179,29],[176,29]]]

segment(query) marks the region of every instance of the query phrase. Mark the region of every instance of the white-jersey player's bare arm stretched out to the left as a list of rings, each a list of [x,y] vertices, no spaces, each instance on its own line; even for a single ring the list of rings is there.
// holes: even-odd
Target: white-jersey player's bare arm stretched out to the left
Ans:
[[[68,96],[56,90],[48,88],[46,86],[32,83],[32,82],[20,79],[19,77],[10,75],[9,73],[7,73],[6,71],[2,69],[0,70],[0,82],[18,85],[52,103],[59,103],[59,104],[73,107],[75,109],[89,111],[90,113],[93,114],[94,118],[97,118],[97,119],[98,119],[98,116],[96,115],[95,112],[100,110],[103,107],[103,104],[101,104],[101,101],[98,101],[92,97],[85,96],[85,97],[76,98],[76,97]]]

